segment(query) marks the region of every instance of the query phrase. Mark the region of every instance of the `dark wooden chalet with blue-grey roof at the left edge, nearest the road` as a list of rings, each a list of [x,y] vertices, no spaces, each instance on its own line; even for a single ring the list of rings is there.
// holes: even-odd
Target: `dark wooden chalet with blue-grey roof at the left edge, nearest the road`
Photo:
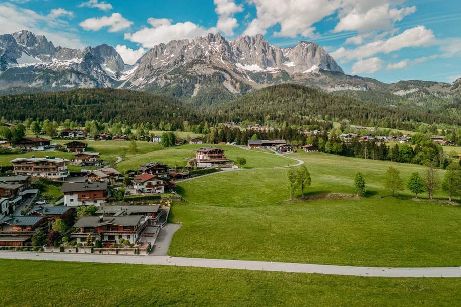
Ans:
[[[6,216],[0,220],[0,246],[21,246],[46,227],[42,216]]]

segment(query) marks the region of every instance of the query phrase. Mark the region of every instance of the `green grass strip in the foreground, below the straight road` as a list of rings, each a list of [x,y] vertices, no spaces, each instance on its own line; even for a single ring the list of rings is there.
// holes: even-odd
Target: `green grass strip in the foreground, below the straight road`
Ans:
[[[3,306],[456,305],[457,278],[0,260]],[[72,276],[72,278],[69,278]],[[30,289],[33,295],[25,295]]]

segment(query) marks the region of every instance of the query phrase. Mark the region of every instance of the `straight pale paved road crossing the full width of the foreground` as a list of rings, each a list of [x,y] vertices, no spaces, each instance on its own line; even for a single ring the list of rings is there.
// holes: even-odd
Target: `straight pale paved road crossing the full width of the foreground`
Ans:
[[[302,264],[266,261],[182,258],[169,256],[124,256],[100,254],[60,254],[0,251],[0,258],[32,259],[74,262],[129,263],[147,265],[172,265],[200,268],[317,273],[364,277],[461,277],[461,267],[446,268],[377,268],[321,264]]]

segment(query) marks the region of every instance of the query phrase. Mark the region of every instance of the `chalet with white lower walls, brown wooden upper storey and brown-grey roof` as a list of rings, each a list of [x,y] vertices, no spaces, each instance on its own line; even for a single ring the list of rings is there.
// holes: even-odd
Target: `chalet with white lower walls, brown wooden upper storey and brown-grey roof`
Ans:
[[[107,182],[75,182],[64,183],[61,187],[64,193],[64,206],[100,206],[109,198]]]

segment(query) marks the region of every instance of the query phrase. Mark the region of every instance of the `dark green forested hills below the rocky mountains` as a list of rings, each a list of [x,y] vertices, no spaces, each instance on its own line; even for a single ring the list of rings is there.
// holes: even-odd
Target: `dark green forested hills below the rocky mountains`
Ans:
[[[173,130],[188,124],[240,122],[280,126],[310,125],[312,120],[349,120],[355,125],[415,130],[420,123],[461,124],[459,116],[448,116],[424,107],[391,106],[321,92],[296,84],[282,84],[251,92],[243,97],[210,106],[194,101],[139,91],[82,89],[67,92],[22,94],[0,97],[1,116],[7,120],[26,118],[65,119],[84,123],[168,122]]]

